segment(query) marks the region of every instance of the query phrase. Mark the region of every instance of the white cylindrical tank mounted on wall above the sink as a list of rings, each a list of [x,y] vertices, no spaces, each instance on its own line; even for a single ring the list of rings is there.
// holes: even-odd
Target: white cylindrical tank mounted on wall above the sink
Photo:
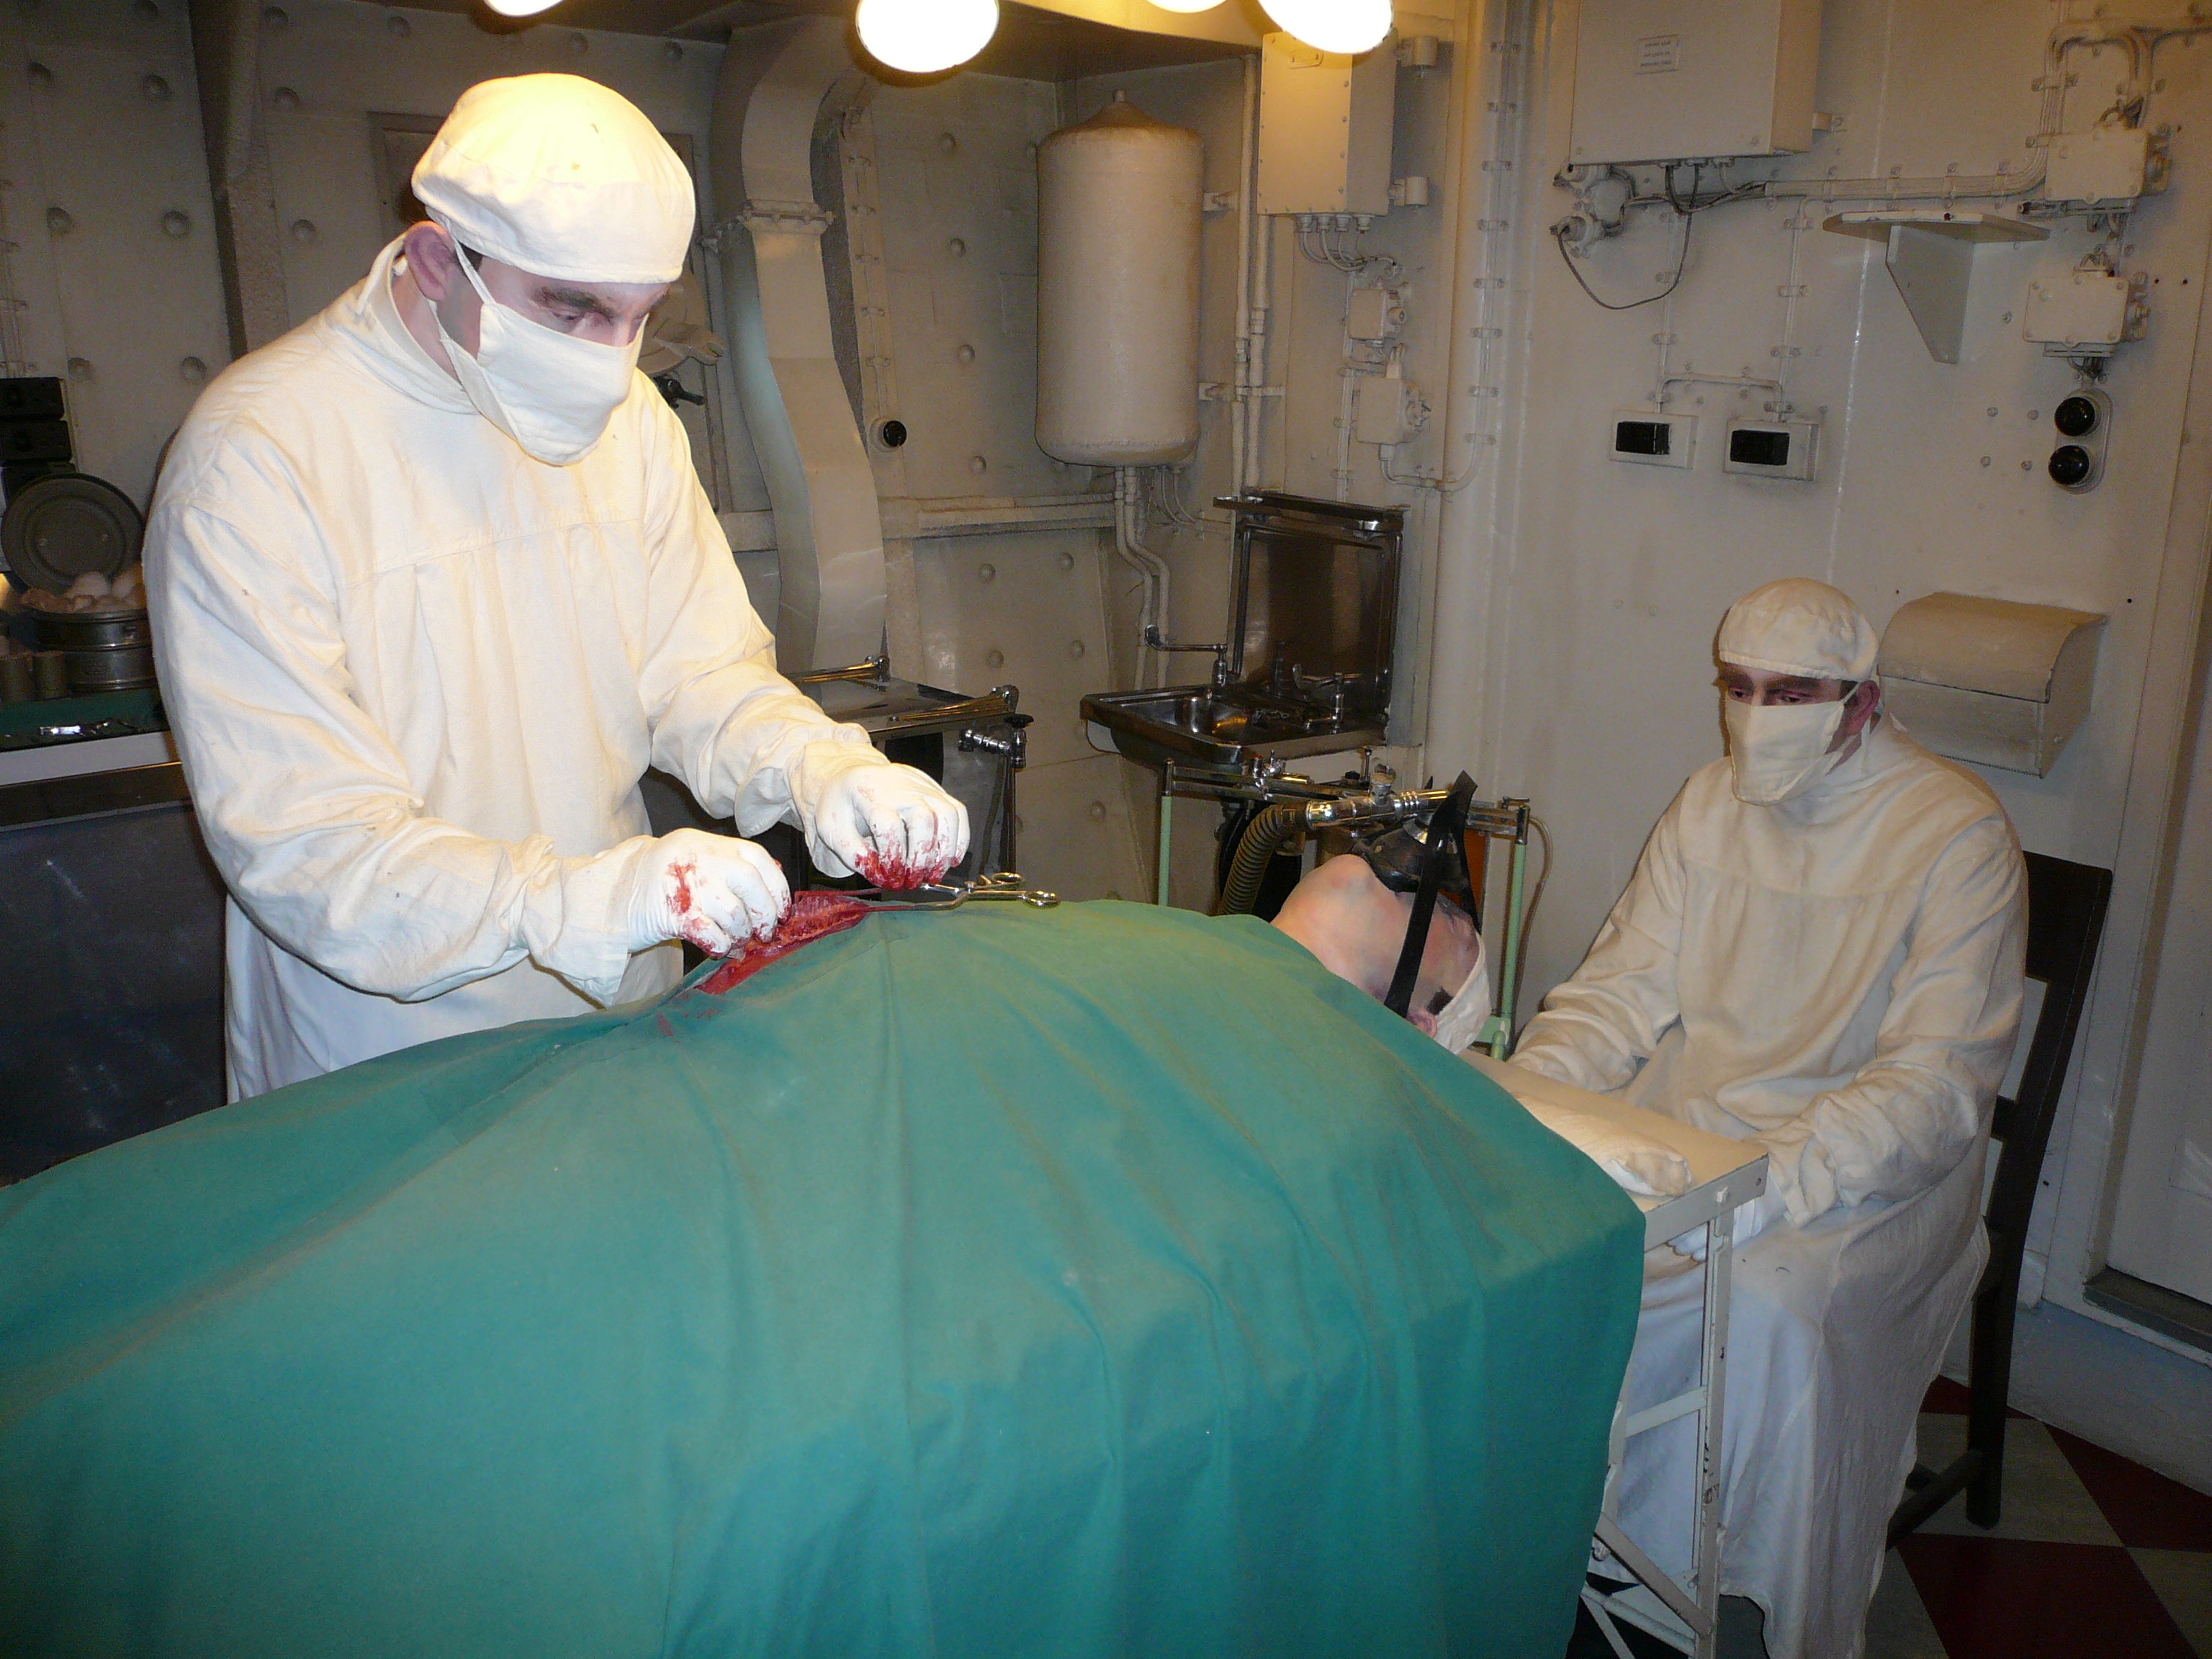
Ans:
[[[1037,447],[1150,467],[1199,447],[1206,146],[1115,102],[1037,148]]]

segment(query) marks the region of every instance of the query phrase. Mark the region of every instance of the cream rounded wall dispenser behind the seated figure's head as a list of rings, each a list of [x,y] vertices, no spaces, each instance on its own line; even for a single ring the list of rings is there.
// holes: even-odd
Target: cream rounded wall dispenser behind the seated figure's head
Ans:
[[[1929,593],[1882,633],[1882,695],[1938,754],[2048,776],[2088,714],[2104,615]]]

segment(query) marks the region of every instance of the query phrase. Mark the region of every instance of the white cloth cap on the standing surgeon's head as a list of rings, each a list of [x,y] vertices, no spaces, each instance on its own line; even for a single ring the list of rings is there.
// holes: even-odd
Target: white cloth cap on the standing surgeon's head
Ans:
[[[580,75],[513,75],[460,95],[414,170],[453,239],[538,276],[672,283],[692,181],[619,93]]]

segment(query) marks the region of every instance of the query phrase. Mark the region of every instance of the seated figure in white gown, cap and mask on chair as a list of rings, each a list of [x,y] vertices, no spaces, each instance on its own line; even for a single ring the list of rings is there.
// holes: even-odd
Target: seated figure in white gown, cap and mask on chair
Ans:
[[[2022,1009],[2013,825],[1882,714],[1876,653],[1823,582],[1730,608],[1728,757],[1513,1051],[1770,1157],[1736,1221],[1721,1590],[1765,1608],[1772,1659],[1860,1652],[1920,1396],[1989,1256],[1982,1152]],[[1694,1383],[1686,1267],[1648,1259],[1632,1411]],[[1624,1524],[1674,1571],[1692,1482],[1690,1418],[1630,1442]]]

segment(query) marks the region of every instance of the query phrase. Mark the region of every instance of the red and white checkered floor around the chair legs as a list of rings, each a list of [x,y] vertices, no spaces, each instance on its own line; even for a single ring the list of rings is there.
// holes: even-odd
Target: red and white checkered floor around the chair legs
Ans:
[[[1958,1455],[1964,1409],[1955,1383],[1929,1389],[1920,1462]],[[1763,1659],[1759,1608],[1723,1613],[1721,1657]],[[1588,1615],[1568,1659],[1613,1659]],[[2212,1659],[2212,1498],[2015,1411],[2002,1522],[1955,1498],[1889,1553],[1867,1659]]]

